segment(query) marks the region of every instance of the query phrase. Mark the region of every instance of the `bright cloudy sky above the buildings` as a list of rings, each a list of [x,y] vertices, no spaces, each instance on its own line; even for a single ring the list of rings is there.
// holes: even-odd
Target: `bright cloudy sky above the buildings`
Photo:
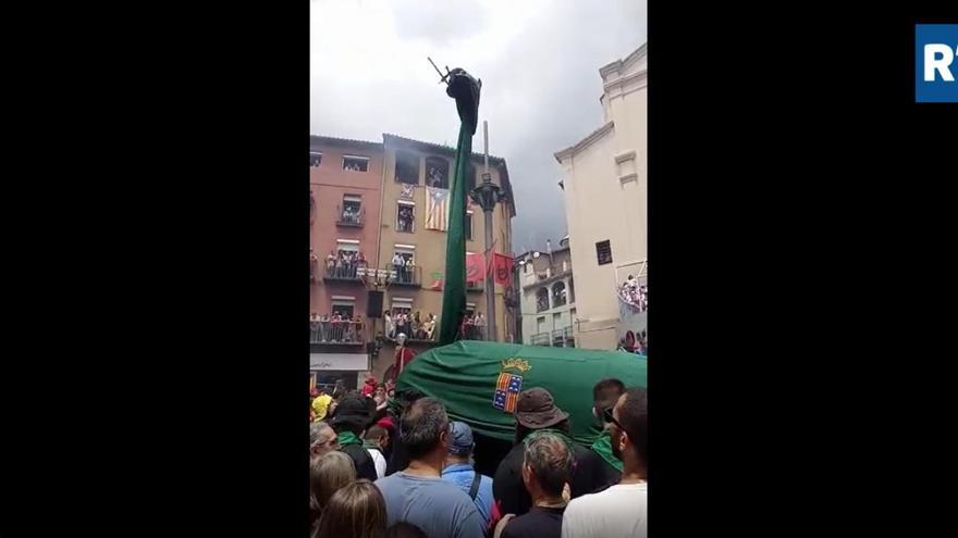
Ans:
[[[566,234],[553,153],[602,124],[599,67],[646,41],[644,0],[312,0],[314,135],[455,146],[455,101],[426,57],[482,79],[489,152],[516,197],[513,250]],[[472,148],[482,151],[480,130]],[[598,216],[598,215],[597,215]]]

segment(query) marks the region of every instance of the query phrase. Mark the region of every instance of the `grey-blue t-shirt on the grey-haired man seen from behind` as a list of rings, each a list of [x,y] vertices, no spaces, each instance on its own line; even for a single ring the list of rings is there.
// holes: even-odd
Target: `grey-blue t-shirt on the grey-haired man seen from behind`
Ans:
[[[442,478],[395,473],[376,480],[385,499],[386,526],[416,525],[429,538],[483,538],[482,516],[472,499]]]

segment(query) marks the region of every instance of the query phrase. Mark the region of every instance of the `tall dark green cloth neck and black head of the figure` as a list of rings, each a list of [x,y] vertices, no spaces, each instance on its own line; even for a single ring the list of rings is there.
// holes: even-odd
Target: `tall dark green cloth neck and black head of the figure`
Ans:
[[[456,170],[450,192],[450,222],[445,238],[445,283],[442,289],[442,313],[439,316],[439,343],[456,340],[466,314],[466,171],[472,155],[472,135],[479,117],[479,89],[476,80],[456,67],[451,72],[446,93],[456,100],[459,114],[459,140],[456,145]]]

